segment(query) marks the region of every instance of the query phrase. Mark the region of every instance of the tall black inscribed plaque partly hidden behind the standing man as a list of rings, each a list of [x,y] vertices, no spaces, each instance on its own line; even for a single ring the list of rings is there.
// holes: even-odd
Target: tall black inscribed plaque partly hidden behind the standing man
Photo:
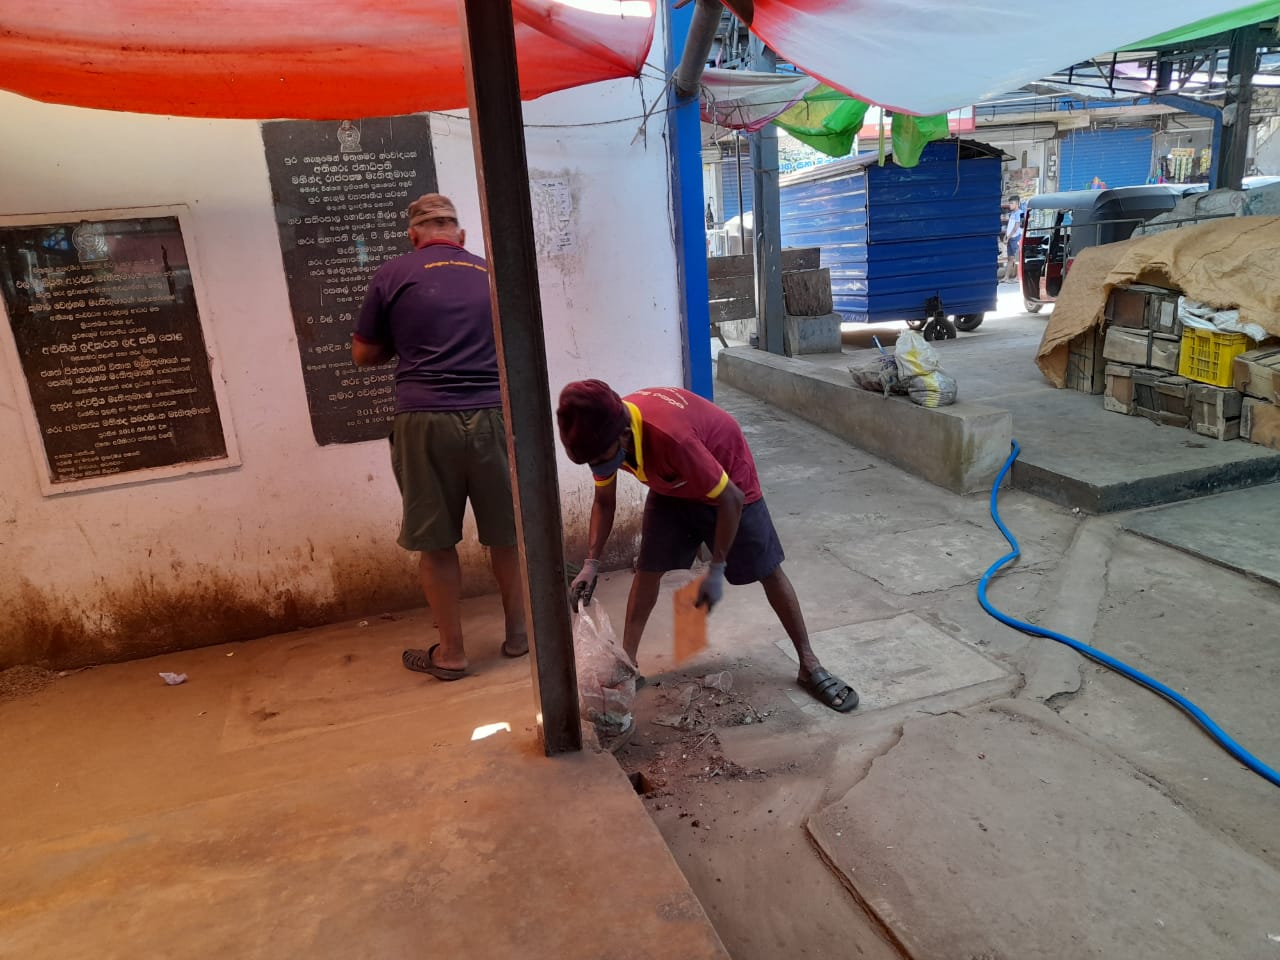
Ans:
[[[262,145],[316,443],[383,439],[396,367],[352,364],[351,332],[370,276],[412,248],[410,202],[436,188],[430,120],[270,120]]]

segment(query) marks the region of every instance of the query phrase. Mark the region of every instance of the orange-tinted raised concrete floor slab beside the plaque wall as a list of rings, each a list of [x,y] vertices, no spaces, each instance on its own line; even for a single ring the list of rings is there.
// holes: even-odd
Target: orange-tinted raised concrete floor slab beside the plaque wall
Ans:
[[[466,626],[457,684],[401,667],[422,612],[0,704],[0,956],[724,957],[614,758],[541,755],[494,599]]]

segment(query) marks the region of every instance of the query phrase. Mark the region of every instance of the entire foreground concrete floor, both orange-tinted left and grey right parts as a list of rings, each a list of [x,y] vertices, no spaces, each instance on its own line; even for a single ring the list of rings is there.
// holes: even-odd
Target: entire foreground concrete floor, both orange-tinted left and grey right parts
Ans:
[[[74,675],[0,705],[0,956],[698,957],[716,934],[735,960],[1280,956],[1280,791],[1164,700],[989,618],[986,497],[718,399],[858,712],[800,691],[763,593],[732,586],[694,660],[672,660],[669,599],[646,634],[620,755],[643,805],[608,756],[536,755],[493,598],[468,607],[466,684],[401,669],[422,614]],[[1130,515],[1020,490],[1001,509],[1025,557],[997,605],[1280,763],[1280,589]],[[614,622],[628,581],[598,591]],[[722,671],[727,692],[700,682]],[[512,732],[471,741],[497,722]]]

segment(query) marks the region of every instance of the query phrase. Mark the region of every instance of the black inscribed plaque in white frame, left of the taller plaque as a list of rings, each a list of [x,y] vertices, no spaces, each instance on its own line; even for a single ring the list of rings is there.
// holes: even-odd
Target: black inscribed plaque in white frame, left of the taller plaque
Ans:
[[[227,457],[177,216],[0,227],[52,484]]]

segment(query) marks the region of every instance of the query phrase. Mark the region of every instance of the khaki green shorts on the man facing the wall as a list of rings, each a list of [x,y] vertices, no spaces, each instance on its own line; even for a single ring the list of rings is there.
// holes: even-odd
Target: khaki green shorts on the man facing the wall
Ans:
[[[502,410],[397,413],[392,470],[404,502],[399,545],[443,550],[462,540],[467,500],[485,547],[516,545]]]

